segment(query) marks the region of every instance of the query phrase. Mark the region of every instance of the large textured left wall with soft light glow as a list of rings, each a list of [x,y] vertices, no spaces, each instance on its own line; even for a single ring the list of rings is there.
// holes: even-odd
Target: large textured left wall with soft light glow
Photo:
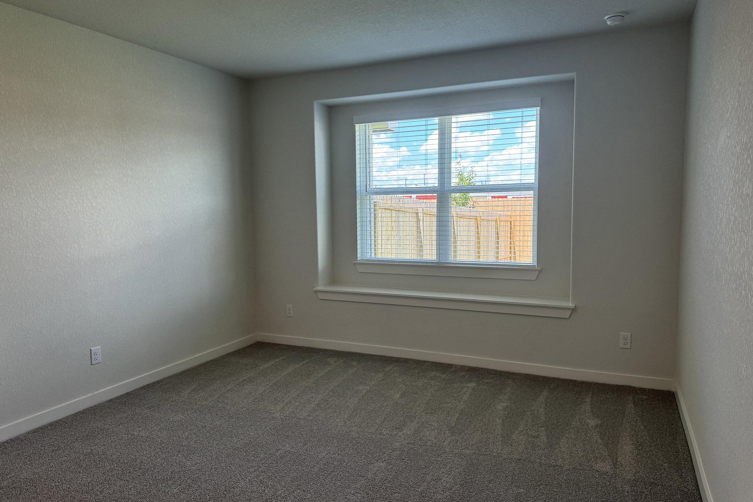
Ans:
[[[247,335],[245,83],[5,4],[0,47],[0,426]]]

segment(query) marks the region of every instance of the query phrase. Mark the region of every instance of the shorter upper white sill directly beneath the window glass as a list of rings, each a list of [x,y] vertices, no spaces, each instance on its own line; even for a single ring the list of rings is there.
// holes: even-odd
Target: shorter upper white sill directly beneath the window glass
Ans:
[[[526,279],[533,281],[541,269],[535,266],[473,265],[466,263],[405,263],[388,260],[354,261],[358,272],[404,275],[441,275],[443,277],[477,277],[490,279]]]

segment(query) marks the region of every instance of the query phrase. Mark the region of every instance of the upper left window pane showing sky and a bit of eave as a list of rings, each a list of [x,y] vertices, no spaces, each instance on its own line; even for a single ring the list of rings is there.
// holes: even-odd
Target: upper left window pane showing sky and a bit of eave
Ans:
[[[369,188],[437,186],[436,118],[371,123]]]

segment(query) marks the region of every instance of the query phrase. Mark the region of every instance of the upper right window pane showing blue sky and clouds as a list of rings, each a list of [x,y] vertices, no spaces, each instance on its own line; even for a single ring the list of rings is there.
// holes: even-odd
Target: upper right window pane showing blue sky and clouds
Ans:
[[[453,184],[535,183],[538,109],[453,117]]]

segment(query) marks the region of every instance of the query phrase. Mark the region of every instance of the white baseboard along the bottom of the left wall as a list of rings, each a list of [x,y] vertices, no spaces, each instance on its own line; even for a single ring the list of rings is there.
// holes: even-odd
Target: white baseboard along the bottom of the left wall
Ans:
[[[194,367],[197,364],[206,363],[206,361],[210,361],[215,357],[220,357],[221,355],[238,350],[239,348],[243,348],[246,345],[251,345],[255,342],[257,342],[256,334],[244,336],[241,339],[220,345],[219,347],[210,348],[208,351],[188,357],[183,361],[168,364],[165,367],[150,371],[149,373],[144,373],[143,375],[136,376],[133,379],[126,380],[125,382],[111,385],[110,387],[103,388],[102,390],[93,392],[92,394],[87,394],[86,396],[78,397],[78,399],[69,401],[67,403],[62,403],[58,406],[53,406],[50,409],[45,409],[43,412],[38,412],[35,415],[21,418],[20,420],[11,422],[10,424],[5,424],[0,427],[0,442],[11,439],[11,437],[18,436],[19,434],[23,434],[27,431],[31,431],[32,429],[35,429],[37,427],[41,427],[44,424],[49,424],[51,421],[58,420],[59,418],[62,418],[64,416],[72,415],[72,413],[79,412],[82,409],[102,403],[103,401],[112,399],[113,397],[120,396],[120,394],[125,394],[126,392],[133,391],[133,389],[142,387],[143,385],[147,385],[151,382],[156,382],[157,380],[163,379],[166,376],[187,370],[188,368]]]

